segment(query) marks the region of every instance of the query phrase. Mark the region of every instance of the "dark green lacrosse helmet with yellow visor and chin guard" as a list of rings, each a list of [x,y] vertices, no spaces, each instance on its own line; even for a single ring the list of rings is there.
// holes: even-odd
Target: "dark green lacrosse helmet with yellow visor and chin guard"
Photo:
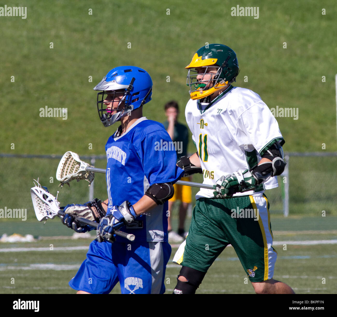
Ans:
[[[204,74],[192,70],[198,67],[205,68]],[[223,44],[208,44],[199,48],[185,68],[188,69],[187,85],[190,86],[189,93],[193,100],[212,95],[232,83],[240,71],[235,51]],[[211,70],[216,70],[216,74],[210,73]],[[207,74],[215,76],[211,76],[208,81],[203,78],[197,80],[196,76],[200,74],[203,74],[203,78]]]

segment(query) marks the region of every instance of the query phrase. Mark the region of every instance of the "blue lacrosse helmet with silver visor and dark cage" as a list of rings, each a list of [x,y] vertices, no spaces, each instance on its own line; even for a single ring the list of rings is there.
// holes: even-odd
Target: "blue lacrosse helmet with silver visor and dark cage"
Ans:
[[[130,111],[140,108],[151,100],[152,79],[147,71],[135,66],[119,66],[109,71],[101,82],[95,86],[97,93],[98,115],[104,127],[113,125]],[[119,101],[118,108],[124,102],[124,108],[115,110],[106,108],[104,100],[108,94],[112,95],[109,100],[114,100],[116,93],[124,93]]]

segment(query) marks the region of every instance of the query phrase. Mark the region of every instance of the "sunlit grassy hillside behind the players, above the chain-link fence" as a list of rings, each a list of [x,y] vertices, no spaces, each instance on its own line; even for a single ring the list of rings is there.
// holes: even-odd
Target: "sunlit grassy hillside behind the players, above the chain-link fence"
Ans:
[[[146,69],[154,86],[144,114],[163,121],[166,101],[178,100],[183,110],[189,99],[184,67],[206,43],[225,43],[236,51],[237,86],[257,92],[270,108],[299,108],[297,120],[278,118],[285,151],[322,151],[322,143],[327,151],[337,149],[333,0],[324,2],[325,15],[323,4],[314,0],[259,1],[259,19],[231,16],[237,3],[215,0],[209,5],[178,0],[25,5],[27,19],[0,19],[1,152],[63,154],[71,148],[82,155],[102,154],[114,129],[104,128],[96,112],[92,89],[103,76],[119,65]],[[45,106],[68,108],[67,120],[40,117]],[[189,149],[194,150],[192,144]]]

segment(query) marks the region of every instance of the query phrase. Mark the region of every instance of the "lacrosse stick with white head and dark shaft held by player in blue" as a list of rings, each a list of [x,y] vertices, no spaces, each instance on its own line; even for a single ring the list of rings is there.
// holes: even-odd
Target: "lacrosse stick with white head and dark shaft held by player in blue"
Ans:
[[[55,198],[50,192],[47,191],[47,187],[42,187],[38,181],[36,182],[37,182],[37,185],[34,182],[35,186],[30,189],[30,193],[32,196],[34,211],[35,211],[37,220],[47,221],[47,219],[49,218],[54,219],[55,216],[60,217],[62,215],[65,215],[63,210],[60,209],[60,203],[57,201],[57,198]],[[97,228],[98,226],[97,222],[94,222],[94,221],[91,221],[91,220],[88,220],[82,217],[75,216],[75,219],[82,224],[87,224],[95,228]],[[127,234],[119,230],[115,230],[113,234],[126,238],[130,241],[133,241],[135,238],[134,235]]]

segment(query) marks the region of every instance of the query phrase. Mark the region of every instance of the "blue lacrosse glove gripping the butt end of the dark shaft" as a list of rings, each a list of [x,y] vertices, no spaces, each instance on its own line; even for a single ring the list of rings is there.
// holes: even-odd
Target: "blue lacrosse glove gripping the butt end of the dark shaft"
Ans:
[[[97,241],[116,241],[114,238],[115,230],[119,230],[119,228],[125,224],[133,222],[136,216],[137,215],[132,205],[128,201],[125,201],[120,206],[112,207],[109,215],[106,215],[104,218],[102,218],[99,222],[99,225],[97,226]]]

